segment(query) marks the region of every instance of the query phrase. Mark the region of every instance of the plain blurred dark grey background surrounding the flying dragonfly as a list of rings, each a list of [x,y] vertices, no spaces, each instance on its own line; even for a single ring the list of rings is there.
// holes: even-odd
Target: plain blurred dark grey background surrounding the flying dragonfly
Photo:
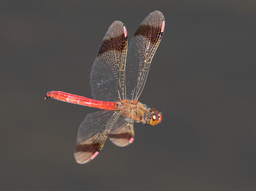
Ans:
[[[256,1],[1,1],[0,190],[256,190]],[[98,109],[90,70],[109,25],[131,39],[152,11],[166,27],[139,101],[163,111],[135,141],[75,162],[77,129]]]

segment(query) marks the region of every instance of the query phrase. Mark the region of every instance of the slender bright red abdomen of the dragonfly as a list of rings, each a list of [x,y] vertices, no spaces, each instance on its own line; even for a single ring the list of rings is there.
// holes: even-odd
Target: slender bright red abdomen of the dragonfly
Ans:
[[[62,91],[49,91],[46,94],[47,98],[52,98],[55,100],[65,101],[72,104],[84,105],[93,108],[99,108],[104,110],[116,110],[117,109],[117,102],[111,101],[99,101],[89,99],[87,97],[82,97],[74,94],[68,94]]]

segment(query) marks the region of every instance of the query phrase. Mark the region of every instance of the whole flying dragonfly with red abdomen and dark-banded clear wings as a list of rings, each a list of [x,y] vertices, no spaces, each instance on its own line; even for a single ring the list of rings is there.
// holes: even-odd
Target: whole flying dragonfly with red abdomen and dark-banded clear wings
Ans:
[[[160,11],[150,13],[139,25],[127,49],[127,30],[120,21],[108,28],[93,63],[90,85],[93,99],[49,91],[52,98],[103,109],[88,114],[80,124],[74,149],[77,163],[93,160],[106,139],[124,147],[134,141],[134,122],[157,125],[162,114],[138,101],[149,67],[165,29]]]

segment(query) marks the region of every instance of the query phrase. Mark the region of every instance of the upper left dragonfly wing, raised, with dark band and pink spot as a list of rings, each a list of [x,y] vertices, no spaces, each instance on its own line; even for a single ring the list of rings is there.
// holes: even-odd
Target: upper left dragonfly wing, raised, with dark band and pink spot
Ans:
[[[93,98],[117,101],[125,96],[125,59],[127,31],[115,21],[108,28],[91,69],[90,82]]]

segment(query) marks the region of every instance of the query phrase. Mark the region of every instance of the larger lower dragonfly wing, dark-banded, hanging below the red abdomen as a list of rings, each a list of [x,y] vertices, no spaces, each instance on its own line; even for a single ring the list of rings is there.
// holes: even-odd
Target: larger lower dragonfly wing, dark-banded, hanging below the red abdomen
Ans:
[[[79,126],[74,150],[77,163],[87,163],[99,154],[120,113],[120,111],[97,111],[85,117]]]

